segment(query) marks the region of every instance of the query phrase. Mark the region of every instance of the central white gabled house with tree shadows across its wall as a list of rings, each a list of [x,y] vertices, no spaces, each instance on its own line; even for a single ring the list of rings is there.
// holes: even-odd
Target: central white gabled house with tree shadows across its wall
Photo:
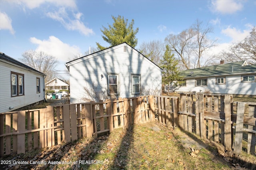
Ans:
[[[66,67],[71,103],[89,98],[86,90],[115,98],[161,94],[162,69],[127,43],[70,61]]]

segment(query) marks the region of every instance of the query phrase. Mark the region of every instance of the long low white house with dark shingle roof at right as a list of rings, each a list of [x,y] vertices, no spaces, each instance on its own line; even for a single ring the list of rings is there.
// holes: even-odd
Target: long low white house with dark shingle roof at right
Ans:
[[[177,92],[206,92],[256,95],[256,65],[246,61],[181,71],[184,82]]]

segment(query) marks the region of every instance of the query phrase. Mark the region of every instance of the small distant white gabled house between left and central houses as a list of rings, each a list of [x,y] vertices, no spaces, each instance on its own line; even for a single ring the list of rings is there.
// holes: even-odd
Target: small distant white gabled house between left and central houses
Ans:
[[[55,92],[60,90],[68,90],[68,87],[68,84],[58,78],[54,78],[45,84],[46,90],[54,90]]]

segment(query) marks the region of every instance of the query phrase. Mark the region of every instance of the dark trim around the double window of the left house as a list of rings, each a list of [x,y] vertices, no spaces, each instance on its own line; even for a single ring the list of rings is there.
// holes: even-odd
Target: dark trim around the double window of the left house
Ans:
[[[16,94],[12,94],[12,75],[16,76]],[[11,71],[11,76],[10,76],[11,80],[10,80],[10,84],[11,84],[11,97],[16,97],[16,96],[24,96],[25,92],[24,92],[24,87],[25,87],[25,83],[24,83],[24,74],[18,73],[18,72],[13,72]],[[19,77],[22,77],[22,85],[19,84]],[[20,93],[20,86],[22,86],[22,93]]]

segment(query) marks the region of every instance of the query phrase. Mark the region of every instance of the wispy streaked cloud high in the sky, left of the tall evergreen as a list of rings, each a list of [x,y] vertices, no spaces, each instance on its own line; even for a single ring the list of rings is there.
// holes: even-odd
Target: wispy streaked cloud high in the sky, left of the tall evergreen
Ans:
[[[68,16],[65,8],[60,8],[58,12],[48,12],[46,14],[48,17],[52,18],[53,20],[59,21],[62,25],[68,30],[78,30],[80,33],[84,35],[94,34],[93,30],[86,27],[82,21],[80,21],[80,17],[82,13],[74,14],[75,19],[71,19]]]

